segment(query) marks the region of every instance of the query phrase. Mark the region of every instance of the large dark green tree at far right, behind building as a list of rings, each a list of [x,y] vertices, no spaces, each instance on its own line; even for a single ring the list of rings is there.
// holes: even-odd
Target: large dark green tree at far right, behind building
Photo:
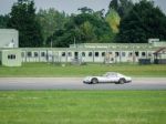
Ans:
[[[121,21],[116,41],[145,43],[149,38],[166,40],[166,16],[152,1],[142,0]]]

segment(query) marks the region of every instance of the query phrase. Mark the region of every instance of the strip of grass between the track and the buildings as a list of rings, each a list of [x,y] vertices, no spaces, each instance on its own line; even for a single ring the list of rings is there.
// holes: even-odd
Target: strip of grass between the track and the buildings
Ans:
[[[105,72],[120,72],[131,76],[166,76],[166,65],[87,64],[53,65],[50,63],[23,63],[21,68],[0,66],[0,76],[85,76]]]

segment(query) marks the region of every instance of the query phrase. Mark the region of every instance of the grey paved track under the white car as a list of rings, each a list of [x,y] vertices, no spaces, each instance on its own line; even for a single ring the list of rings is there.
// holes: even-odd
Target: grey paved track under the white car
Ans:
[[[84,84],[82,78],[0,78],[0,90],[166,90],[166,78],[134,78],[132,83]]]

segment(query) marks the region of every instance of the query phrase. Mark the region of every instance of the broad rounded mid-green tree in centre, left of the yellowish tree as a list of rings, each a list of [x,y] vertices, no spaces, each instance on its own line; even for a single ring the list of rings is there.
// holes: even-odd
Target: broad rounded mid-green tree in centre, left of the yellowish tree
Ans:
[[[52,40],[53,46],[69,46],[74,43],[112,42],[114,33],[103,17],[103,10],[94,12],[83,8],[82,13],[72,14],[63,30],[54,31],[46,43]],[[91,11],[90,11],[91,10]]]

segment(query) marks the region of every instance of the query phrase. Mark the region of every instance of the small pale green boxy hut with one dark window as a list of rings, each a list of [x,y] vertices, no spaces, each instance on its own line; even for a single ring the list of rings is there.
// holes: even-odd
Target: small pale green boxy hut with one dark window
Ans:
[[[21,66],[21,51],[20,50],[2,50],[2,65],[4,66]]]

